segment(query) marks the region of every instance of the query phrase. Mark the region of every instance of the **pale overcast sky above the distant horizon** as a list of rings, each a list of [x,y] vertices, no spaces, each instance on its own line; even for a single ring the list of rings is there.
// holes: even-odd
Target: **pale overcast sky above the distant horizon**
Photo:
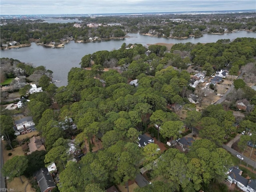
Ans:
[[[256,0],[0,0],[1,15],[255,10]]]

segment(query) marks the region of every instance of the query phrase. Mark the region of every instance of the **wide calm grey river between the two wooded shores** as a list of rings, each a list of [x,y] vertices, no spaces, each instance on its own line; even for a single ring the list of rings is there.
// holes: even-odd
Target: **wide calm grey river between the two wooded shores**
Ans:
[[[46,69],[52,70],[53,79],[59,80],[61,82],[56,83],[56,86],[66,86],[68,72],[72,67],[80,67],[79,63],[81,58],[86,54],[92,54],[100,50],[114,50],[122,46],[123,43],[126,44],[142,44],[146,46],[147,44],[155,43],[209,43],[216,42],[219,39],[230,39],[231,41],[238,37],[251,37],[256,38],[256,33],[240,31],[225,35],[211,35],[204,34],[202,38],[188,38],[188,39],[167,39],[167,38],[157,38],[145,35],[140,35],[138,33],[129,33],[129,38],[124,40],[106,40],[106,41],[96,41],[90,43],[71,43],[66,44],[64,48],[45,48],[44,46],[37,46],[32,43],[30,47],[20,48],[20,49],[10,49],[1,50],[1,58],[14,58],[21,62],[32,63],[34,66],[45,66]]]

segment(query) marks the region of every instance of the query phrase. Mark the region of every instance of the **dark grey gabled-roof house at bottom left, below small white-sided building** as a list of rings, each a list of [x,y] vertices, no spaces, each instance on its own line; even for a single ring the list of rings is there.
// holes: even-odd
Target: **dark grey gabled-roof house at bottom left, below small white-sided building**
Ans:
[[[33,176],[38,182],[41,192],[50,192],[56,187],[52,174],[48,172],[47,168],[40,168],[34,172]]]

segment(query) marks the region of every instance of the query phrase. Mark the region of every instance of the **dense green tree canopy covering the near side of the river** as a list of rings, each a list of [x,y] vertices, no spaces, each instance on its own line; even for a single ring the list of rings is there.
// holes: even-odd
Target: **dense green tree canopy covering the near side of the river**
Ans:
[[[85,55],[81,68],[72,68],[68,73],[67,86],[57,88],[49,83],[49,76],[40,73],[37,83],[44,92],[26,95],[28,87],[24,87],[20,94],[30,100],[22,111],[33,117],[45,138],[46,154],[37,154],[41,158],[33,170],[24,165],[24,174],[31,176],[42,164],[56,162],[60,192],[101,192],[113,184],[126,184],[128,190],[128,182],[136,178],[141,167],[150,164],[148,177],[158,181],[152,182],[154,187],[137,188],[136,192],[212,192],[213,186],[216,191],[228,191],[221,182],[234,163],[222,144],[246,128],[252,132],[250,139],[256,140],[256,108],[246,113],[244,119],[235,118],[232,111],[220,104],[197,111],[188,95],[202,92],[188,86],[190,73],[186,69],[192,64],[210,76],[223,68],[238,75],[243,68],[243,80],[234,81],[236,92],[241,93],[239,98],[256,104],[256,91],[249,86],[255,83],[255,79],[249,78],[256,76],[255,57],[255,38],[176,44],[170,52],[160,45],[145,48],[141,44],[123,44],[119,50]],[[27,76],[42,70],[32,70],[22,63],[17,67]],[[91,70],[84,69],[88,67]],[[114,67],[119,72],[104,71]],[[138,86],[128,84],[134,79],[138,79]],[[232,99],[234,104],[237,98]],[[57,102],[60,110],[50,109],[52,102]],[[185,118],[180,110],[169,107],[173,104],[182,106]],[[2,110],[1,127],[5,129],[1,129],[1,134],[13,134],[10,113]],[[72,118],[77,130],[72,126],[62,130],[59,122],[67,118]],[[237,122],[239,128],[235,126]],[[161,128],[156,129],[154,124]],[[166,144],[190,133],[192,128],[198,129],[201,139],[185,153],[174,146],[161,151],[157,144],[144,148],[137,144],[138,136],[146,132]],[[76,138],[76,147],[86,151],[78,162],[69,161],[67,153],[72,136]],[[94,146],[99,146],[97,152],[93,152]],[[30,155],[26,158],[24,164],[31,161]]]

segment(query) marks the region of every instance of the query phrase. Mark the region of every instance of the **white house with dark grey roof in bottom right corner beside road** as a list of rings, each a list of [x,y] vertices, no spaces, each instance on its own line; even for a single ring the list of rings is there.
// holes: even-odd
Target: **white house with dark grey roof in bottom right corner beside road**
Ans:
[[[244,192],[256,192],[256,181],[247,180],[242,176],[242,172],[243,171],[240,170],[238,166],[231,167],[227,172],[227,181],[229,181],[230,184],[236,184],[236,186]]]

